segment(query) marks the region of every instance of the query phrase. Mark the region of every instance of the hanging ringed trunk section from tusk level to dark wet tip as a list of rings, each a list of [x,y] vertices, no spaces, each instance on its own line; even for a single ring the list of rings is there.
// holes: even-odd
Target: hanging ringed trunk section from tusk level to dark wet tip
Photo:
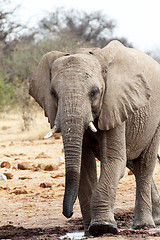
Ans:
[[[62,124],[63,125],[63,124]],[[64,127],[61,126],[65,153],[65,194],[63,200],[63,215],[70,218],[73,214],[73,205],[79,189],[82,140],[84,133],[83,118],[72,115],[65,119]]]

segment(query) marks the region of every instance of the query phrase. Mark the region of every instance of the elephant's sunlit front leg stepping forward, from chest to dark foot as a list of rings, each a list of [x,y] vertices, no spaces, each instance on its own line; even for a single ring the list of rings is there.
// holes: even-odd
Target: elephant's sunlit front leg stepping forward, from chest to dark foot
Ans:
[[[89,232],[99,236],[116,234],[114,203],[119,179],[126,167],[125,125],[101,132],[101,175],[91,200]]]

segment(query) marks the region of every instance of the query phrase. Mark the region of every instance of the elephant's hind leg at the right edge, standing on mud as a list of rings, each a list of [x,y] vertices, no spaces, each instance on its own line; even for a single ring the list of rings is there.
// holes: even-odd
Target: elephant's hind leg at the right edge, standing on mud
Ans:
[[[159,129],[158,129],[159,130]],[[136,203],[134,210],[134,229],[155,227],[152,217],[152,204],[156,203],[157,190],[153,184],[153,171],[159,148],[159,131],[156,131],[150,145],[133,161],[136,177]],[[152,191],[151,188],[153,187]],[[155,209],[153,207],[153,215]]]

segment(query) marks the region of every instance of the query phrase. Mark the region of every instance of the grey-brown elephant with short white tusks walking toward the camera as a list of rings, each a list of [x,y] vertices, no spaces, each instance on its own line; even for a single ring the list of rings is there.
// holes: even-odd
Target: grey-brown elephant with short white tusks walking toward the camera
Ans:
[[[153,180],[160,65],[117,40],[104,48],[51,51],[40,60],[29,93],[44,109],[52,132],[62,134],[64,216],[72,216],[78,197],[86,235],[116,234],[116,190],[127,166],[136,179],[133,228],[160,224],[160,195]]]

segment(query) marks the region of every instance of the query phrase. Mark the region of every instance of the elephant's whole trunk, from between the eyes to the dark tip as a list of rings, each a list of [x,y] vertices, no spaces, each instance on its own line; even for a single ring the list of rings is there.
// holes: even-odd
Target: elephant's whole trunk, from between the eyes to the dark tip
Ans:
[[[63,215],[67,218],[72,216],[78,196],[84,131],[93,120],[92,112],[88,114],[86,109],[84,95],[76,87],[66,91],[58,102],[55,124],[61,129],[64,145],[66,178]]]

